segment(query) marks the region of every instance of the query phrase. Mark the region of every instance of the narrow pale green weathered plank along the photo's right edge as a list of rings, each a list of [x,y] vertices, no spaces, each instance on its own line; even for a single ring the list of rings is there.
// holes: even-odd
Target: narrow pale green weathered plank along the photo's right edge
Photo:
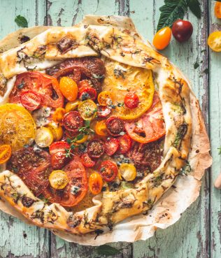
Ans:
[[[221,20],[214,15],[215,1],[210,1],[209,33],[221,31]],[[211,258],[221,257],[221,191],[213,186],[215,179],[220,173],[221,159],[218,148],[221,145],[221,90],[220,90],[220,53],[210,50],[210,130],[211,130],[211,153],[213,155],[213,166],[211,169]]]

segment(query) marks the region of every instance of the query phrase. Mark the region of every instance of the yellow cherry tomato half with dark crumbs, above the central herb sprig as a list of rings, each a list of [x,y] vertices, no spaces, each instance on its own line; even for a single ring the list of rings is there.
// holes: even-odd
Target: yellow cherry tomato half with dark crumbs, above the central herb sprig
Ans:
[[[97,113],[97,105],[91,99],[87,99],[79,104],[78,111],[83,120],[92,120]]]

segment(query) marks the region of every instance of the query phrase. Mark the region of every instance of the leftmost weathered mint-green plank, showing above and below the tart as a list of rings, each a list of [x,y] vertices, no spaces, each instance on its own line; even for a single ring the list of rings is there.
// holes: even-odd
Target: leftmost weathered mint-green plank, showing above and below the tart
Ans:
[[[0,36],[20,29],[15,24],[15,16],[27,18],[29,27],[43,24],[45,16],[44,0],[1,1]],[[48,257],[48,231],[29,226],[0,212],[0,257]]]

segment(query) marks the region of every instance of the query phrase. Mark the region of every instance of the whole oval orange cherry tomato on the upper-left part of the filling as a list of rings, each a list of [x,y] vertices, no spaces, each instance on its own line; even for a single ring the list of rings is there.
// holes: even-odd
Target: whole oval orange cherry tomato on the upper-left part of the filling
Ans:
[[[62,77],[59,82],[60,91],[69,101],[75,101],[78,97],[78,85],[69,77]]]

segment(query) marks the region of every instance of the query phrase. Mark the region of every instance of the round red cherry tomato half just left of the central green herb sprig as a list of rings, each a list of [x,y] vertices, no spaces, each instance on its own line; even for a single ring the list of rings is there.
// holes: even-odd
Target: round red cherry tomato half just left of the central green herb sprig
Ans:
[[[63,127],[68,131],[78,132],[80,127],[83,127],[83,118],[80,116],[78,111],[71,111],[66,113],[63,117]]]

